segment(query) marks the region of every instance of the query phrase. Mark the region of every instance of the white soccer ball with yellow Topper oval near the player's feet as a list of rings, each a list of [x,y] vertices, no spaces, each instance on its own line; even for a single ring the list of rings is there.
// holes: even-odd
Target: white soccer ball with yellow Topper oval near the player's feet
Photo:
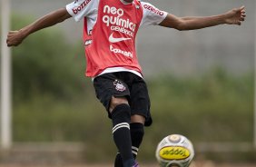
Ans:
[[[155,157],[161,167],[188,167],[194,157],[192,142],[181,134],[171,134],[157,145]]]

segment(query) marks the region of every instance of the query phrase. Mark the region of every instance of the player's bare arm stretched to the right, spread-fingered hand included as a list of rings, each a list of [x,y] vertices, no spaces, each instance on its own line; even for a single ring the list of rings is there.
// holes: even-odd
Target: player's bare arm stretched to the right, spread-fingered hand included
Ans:
[[[177,17],[168,14],[160,25],[177,30],[194,30],[215,25],[241,25],[245,20],[245,8],[234,8],[222,15],[212,15],[206,17]]]

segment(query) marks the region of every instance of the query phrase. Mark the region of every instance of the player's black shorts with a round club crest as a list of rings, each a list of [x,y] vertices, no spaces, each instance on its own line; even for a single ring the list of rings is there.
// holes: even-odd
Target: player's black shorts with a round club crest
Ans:
[[[152,124],[150,98],[143,78],[130,72],[102,74],[94,78],[94,89],[97,98],[108,112],[112,96],[126,97],[131,107],[131,115],[145,117],[145,126]]]

